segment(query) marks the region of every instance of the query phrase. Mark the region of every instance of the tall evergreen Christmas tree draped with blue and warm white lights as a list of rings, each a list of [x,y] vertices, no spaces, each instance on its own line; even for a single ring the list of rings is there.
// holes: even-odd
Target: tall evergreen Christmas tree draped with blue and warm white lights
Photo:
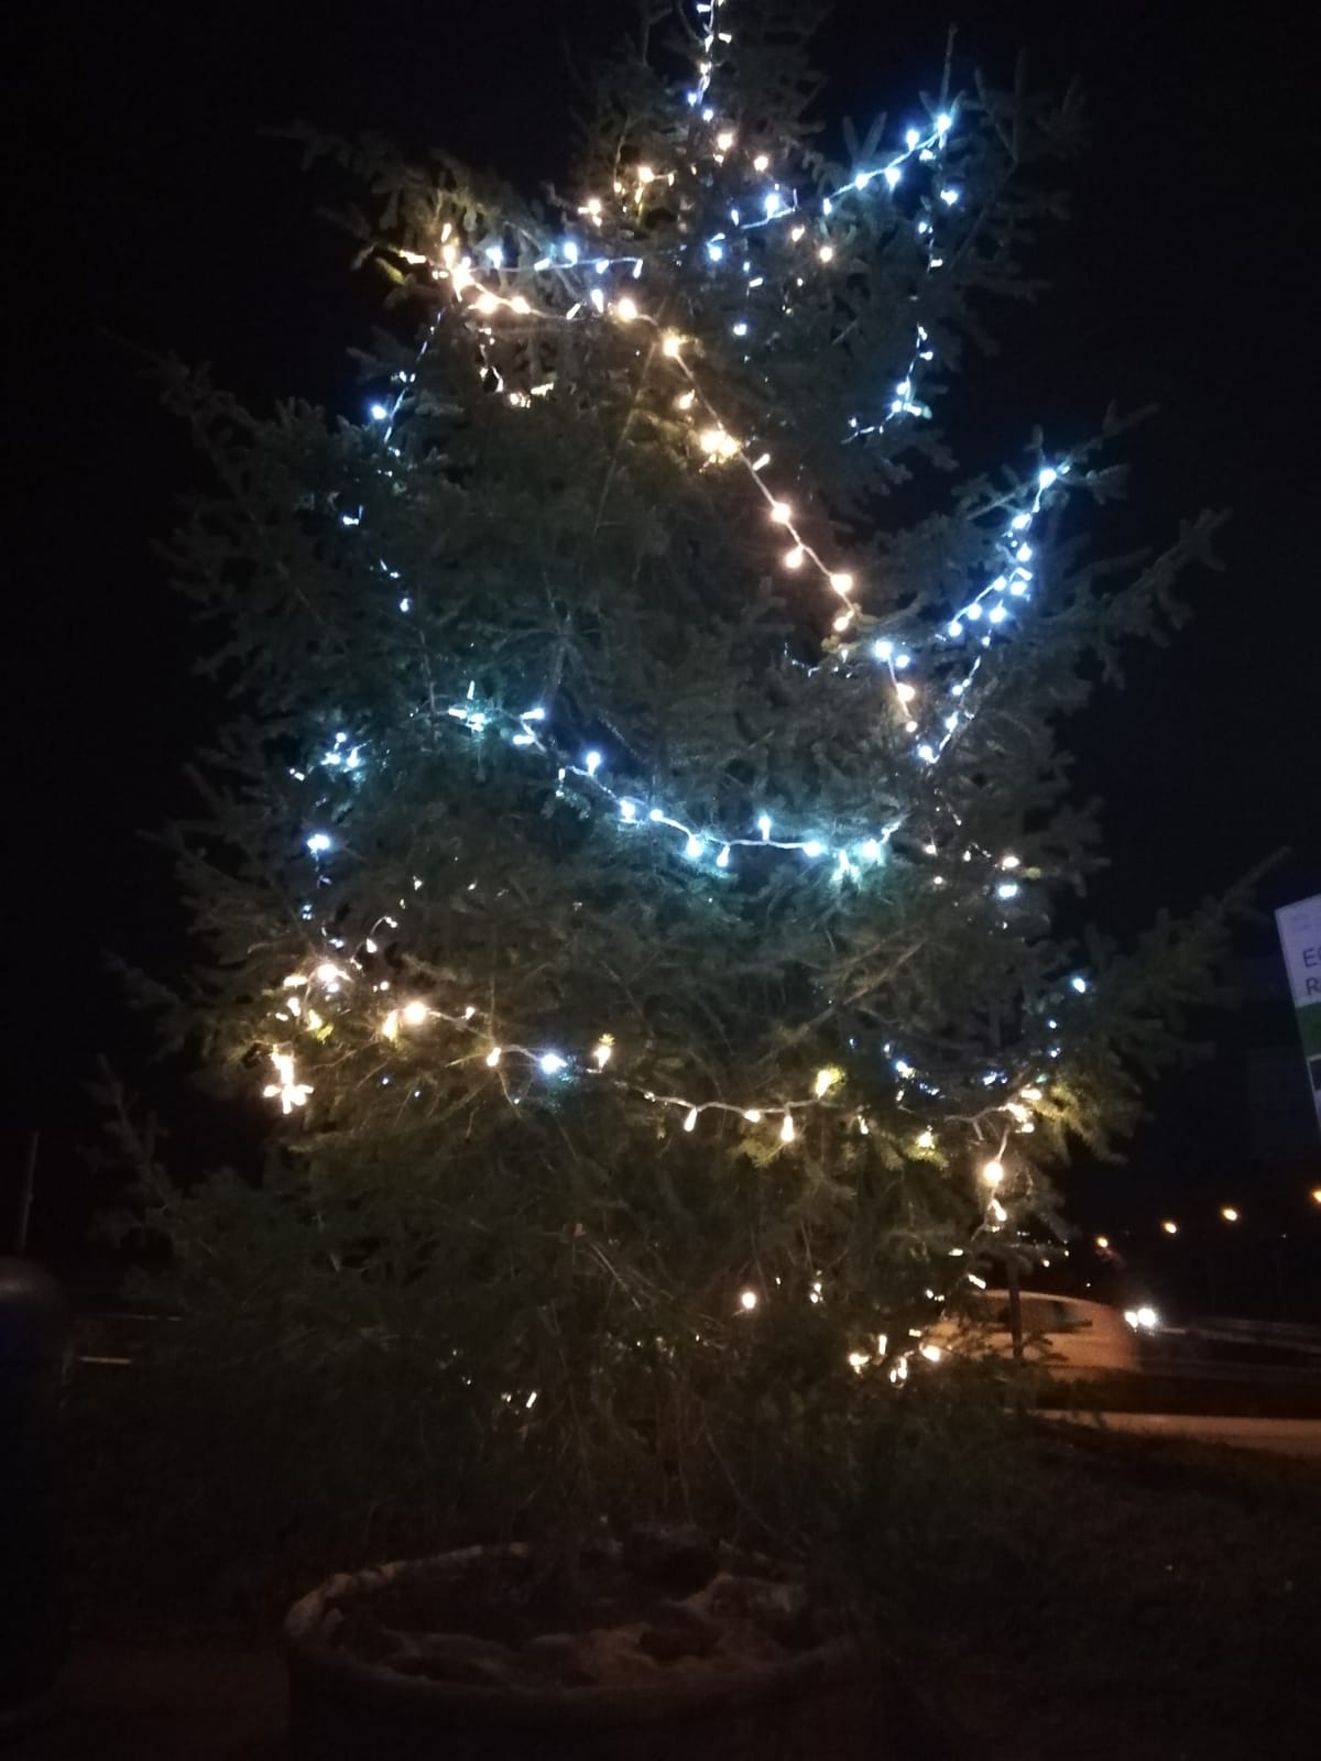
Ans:
[[[807,37],[643,32],[569,195],[342,148],[407,319],[365,419],[173,384],[238,703],[178,833],[183,1021],[277,1150],[160,1215],[194,1296],[410,1359],[548,1511],[888,1398],[1133,1122],[1217,933],[1059,926],[1099,847],[1057,743],[1214,521],[1118,572],[1080,537],[1118,424],[1023,412],[967,475],[937,421],[1036,289],[1076,104],[948,65],[835,162]]]

